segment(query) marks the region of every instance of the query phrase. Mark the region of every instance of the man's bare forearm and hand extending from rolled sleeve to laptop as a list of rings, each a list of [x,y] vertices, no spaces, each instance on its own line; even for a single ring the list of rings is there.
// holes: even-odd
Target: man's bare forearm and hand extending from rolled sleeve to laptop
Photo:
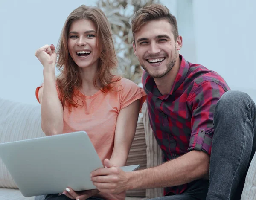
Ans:
[[[91,173],[93,184],[101,192],[119,194],[135,188],[178,186],[209,174],[209,155],[190,151],[154,168],[124,172],[120,168],[102,168]],[[105,176],[102,176],[105,175]]]

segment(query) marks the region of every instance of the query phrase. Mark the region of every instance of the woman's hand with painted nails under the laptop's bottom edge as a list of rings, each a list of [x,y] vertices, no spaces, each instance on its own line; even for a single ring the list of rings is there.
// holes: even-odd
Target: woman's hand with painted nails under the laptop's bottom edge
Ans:
[[[89,197],[92,197],[99,193],[99,190],[84,190],[84,191],[73,191],[72,188],[66,188],[65,191],[63,191],[62,194],[66,195],[70,199],[76,199],[76,200],[86,200]],[[59,194],[60,195],[60,194]]]

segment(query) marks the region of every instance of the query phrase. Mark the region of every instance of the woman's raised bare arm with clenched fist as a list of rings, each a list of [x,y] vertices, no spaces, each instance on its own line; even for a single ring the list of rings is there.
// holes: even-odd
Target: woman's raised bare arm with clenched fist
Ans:
[[[44,87],[38,91],[41,127],[47,136],[60,134],[63,132],[63,107],[55,85],[55,47],[45,45],[36,51],[35,56],[44,66]]]

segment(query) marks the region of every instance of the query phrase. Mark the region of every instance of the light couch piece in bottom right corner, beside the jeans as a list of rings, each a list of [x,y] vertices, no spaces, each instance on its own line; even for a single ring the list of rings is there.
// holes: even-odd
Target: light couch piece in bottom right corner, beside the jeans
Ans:
[[[241,200],[256,200],[256,154],[250,163]]]

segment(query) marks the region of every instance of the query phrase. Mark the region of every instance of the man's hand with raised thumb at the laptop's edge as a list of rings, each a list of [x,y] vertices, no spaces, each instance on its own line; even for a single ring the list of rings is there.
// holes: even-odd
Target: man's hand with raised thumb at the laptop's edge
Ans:
[[[91,173],[93,185],[100,192],[120,194],[128,190],[128,173],[115,167],[108,159],[104,160],[105,168],[100,168]]]

